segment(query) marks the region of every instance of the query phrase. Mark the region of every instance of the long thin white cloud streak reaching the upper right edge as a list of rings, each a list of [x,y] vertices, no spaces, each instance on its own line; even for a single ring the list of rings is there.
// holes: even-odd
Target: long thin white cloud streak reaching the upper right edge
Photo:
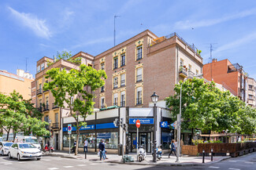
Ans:
[[[191,29],[191,27],[209,27],[215,24],[220,24],[224,23],[225,21],[228,20],[236,20],[239,18],[243,18],[246,16],[251,16],[256,14],[256,9],[249,9],[245,10],[240,13],[234,13],[228,16],[223,16],[221,18],[216,18],[216,19],[210,19],[210,20],[180,20],[174,24],[175,29]]]

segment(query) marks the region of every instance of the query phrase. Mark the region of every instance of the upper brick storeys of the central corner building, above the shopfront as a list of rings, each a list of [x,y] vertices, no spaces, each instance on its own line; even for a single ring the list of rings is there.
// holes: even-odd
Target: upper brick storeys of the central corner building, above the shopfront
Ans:
[[[180,80],[202,74],[202,57],[176,33],[158,38],[147,30],[95,56],[95,69],[108,76],[95,107],[148,107],[153,92],[165,107]]]

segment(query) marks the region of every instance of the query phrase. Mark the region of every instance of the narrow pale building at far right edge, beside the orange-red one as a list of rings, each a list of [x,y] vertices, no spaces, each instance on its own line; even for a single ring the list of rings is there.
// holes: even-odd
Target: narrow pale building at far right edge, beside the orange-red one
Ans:
[[[248,96],[247,96],[247,103],[251,107],[256,107],[256,81],[254,78],[248,78]]]

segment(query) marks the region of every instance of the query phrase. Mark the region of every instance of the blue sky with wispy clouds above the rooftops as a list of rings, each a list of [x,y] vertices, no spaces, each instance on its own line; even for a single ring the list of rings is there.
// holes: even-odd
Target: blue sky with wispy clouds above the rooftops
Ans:
[[[149,29],[158,36],[176,32],[213,58],[239,63],[256,78],[256,1],[208,0],[2,0],[0,1],[0,70],[24,69],[35,75],[36,61],[57,51],[97,55]],[[192,29],[193,28],[193,29]]]

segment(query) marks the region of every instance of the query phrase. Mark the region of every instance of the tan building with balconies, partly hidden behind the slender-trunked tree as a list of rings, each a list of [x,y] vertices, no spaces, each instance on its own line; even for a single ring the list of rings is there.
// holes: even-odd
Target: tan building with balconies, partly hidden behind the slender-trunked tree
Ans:
[[[81,58],[81,63],[91,65],[93,64],[94,56],[91,56],[85,52],[79,52],[72,58]],[[52,63],[49,67],[47,63]],[[66,71],[71,69],[78,69],[80,64],[72,63],[67,60],[58,60],[54,62],[53,59],[50,59],[44,56],[42,59],[37,61],[37,73],[35,74],[35,81],[32,82],[32,103],[35,103],[35,107],[39,111],[43,112],[43,121],[49,122],[51,120],[50,129],[52,132],[53,140],[50,143],[53,143],[56,150],[62,149],[62,131],[61,131],[61,118],[69,117],[69,109],[67,106],[60,109],[58,106],[54,105],[54,96],[52,93],[47,90],[43,91],[43,84],[48,79],[45,78],[46,71],[54,67],[65,68]],[[43,144],[47,143],[48,139],[43,141]]]

